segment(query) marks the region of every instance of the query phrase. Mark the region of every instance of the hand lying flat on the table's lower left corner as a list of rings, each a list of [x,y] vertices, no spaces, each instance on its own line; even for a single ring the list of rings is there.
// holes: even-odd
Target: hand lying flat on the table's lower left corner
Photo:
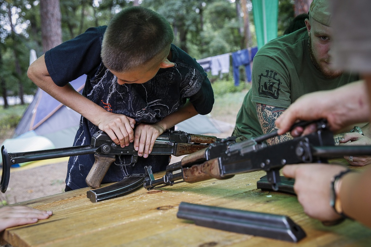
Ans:
[[[13,226],[36,223],[49,218],[52,211],[38,210],[26,206],[4,206],[0,208],[0,232]]]

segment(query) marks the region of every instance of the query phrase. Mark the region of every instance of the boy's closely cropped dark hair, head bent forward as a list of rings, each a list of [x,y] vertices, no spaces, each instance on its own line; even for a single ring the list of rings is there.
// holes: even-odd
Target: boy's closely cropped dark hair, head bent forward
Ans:
[[[109,22],[101,57],[107,69],[125,72],[169,48],[174,33],[160,14],[144,7],[128,7]],[[164,54],[165,57],[165,54]]]

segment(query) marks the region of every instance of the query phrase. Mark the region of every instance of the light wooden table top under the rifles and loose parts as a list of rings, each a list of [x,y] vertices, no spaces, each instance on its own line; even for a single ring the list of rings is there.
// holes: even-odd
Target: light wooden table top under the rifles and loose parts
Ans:
[[[155,174],[158,178],[160,174]],[[371,230],[346,220],[325,227],[303,213],[295,196],[261,191],[256,181],[265,172],[239,174],[227,180],[207,180],[196,184],[132,194],[92,203],[88,188],[18,203],[43,210],[53,216],[26,226],[8,228],[2,244],[13,246],[371,246]],[[203,204],[289,216],[306,232],[298,243],[255,237],[196,226],[176,217],[180,202]]]

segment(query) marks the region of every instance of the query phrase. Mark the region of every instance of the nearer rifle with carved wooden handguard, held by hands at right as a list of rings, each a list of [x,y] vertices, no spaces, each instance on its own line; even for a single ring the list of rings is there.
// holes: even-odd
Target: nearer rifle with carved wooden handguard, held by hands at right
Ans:
[[[268,183],[277,191],[279,170],[286,164],[327,163],[327,158],[371,155],[371,146],[335,146],[334,135],[326,127],[326,122],[316,123],[318,130],[315,133],[272,146],[263,141],[276,136],[276,132],[240,143],[228,139],[211,143],[209,147],[185,156],[180,162],[168,165],[165,175],[159,179],[154,178],[151,166],[146,166],[144,187],[151,190],[175,183],[226,179],[239,173],[265,170]]]

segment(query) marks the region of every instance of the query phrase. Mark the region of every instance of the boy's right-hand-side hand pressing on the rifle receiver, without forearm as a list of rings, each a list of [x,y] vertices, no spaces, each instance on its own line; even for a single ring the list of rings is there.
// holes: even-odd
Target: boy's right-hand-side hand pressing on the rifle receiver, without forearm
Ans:
[[[140,123],[135,127],[134,148],[138,151],[138,156],[148,157],[151,153],[155,140],[164,133],[164,128],[158,124]]]

